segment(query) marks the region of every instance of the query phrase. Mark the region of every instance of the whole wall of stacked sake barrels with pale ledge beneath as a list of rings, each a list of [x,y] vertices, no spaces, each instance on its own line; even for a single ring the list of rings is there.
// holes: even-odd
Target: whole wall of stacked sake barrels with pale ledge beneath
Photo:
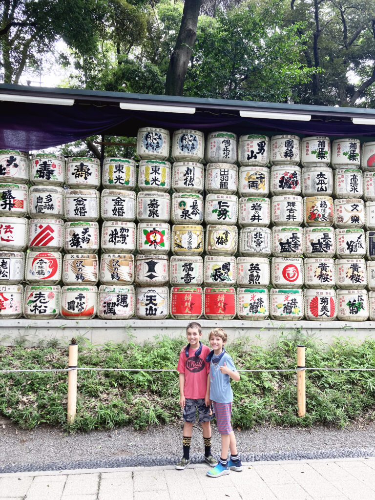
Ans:
[[[0,150],[2,319],[375,320],[375,142],[144,127],[137,156]]]

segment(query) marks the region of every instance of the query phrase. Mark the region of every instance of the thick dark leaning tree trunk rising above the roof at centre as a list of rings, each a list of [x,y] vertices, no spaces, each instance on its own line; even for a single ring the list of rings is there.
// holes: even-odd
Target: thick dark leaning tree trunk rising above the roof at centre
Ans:
[[[165,95],[182,95],[202,0],[185,0],[179,32],[166,73]]]

